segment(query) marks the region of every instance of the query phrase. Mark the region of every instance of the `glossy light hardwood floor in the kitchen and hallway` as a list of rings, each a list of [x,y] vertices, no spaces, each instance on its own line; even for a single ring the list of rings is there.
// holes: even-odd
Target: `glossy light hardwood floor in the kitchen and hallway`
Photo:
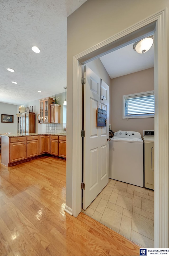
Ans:
[[[139,255],[139,246],[82,212],[64,212],[66,161],[0,164],[0,255]]]

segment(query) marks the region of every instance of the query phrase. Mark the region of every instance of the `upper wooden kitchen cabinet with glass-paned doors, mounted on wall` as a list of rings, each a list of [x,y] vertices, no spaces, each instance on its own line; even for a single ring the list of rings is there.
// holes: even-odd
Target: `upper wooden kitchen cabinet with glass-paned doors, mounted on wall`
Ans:
[[[44,98],[40,101],[40,123],[50,123],[50,104],[53,98]]]

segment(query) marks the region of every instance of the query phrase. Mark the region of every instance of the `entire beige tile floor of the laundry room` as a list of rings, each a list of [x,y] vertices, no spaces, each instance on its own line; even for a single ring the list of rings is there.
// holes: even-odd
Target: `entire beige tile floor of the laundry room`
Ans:
[[[82,211],[143,248],[153,248],[153,190],[109,179],[107,186]]]

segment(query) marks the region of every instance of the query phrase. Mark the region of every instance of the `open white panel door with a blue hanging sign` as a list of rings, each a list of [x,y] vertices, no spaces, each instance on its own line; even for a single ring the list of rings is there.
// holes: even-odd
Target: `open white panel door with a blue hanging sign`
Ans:
[[[83,209],[91,204],[109,181],[109,86],[87,66],[84,68],[84,165]],[[100,100],[104,96],[104,105]],[[101,103],[100,103],[101,101]],[[100,106],[99,106],[100,104]],[[97,107],[107,110],[107,126],[96,127]]]

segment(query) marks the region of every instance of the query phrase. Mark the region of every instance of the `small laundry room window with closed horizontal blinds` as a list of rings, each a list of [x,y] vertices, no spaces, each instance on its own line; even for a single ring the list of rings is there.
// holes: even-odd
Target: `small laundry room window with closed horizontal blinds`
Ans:
[[[123,118],[154,117],[154,91],[123,95]]]

